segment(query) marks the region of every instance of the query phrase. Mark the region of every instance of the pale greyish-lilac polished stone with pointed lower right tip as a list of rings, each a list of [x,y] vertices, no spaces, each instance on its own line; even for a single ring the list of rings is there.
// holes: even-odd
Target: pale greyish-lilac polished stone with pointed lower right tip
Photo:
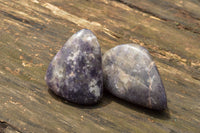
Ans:
[[[103,56],[106,89],[113,95],[147,108],[167,108],[165,89],[149,52],[136,44],[124,44]]]

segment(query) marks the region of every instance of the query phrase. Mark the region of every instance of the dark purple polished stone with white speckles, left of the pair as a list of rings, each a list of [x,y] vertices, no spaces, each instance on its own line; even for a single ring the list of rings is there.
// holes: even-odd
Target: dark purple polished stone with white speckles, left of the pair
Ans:
[[[51,61],[46,82],[57,95],[77,104],[95,104],[102,97],[101,50],[87,29],[74,34]]]

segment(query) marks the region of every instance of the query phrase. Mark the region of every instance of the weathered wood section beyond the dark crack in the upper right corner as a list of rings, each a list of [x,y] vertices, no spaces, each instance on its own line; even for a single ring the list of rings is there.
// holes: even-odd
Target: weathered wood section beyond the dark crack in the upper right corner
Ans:
[[[177,28],[199,34],[200,2],[198,0],[117,0],[131,8],[175,23]]]

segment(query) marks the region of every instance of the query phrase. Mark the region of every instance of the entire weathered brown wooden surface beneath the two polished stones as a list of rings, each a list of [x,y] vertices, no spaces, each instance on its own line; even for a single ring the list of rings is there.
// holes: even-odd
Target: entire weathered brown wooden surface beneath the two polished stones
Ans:
[[[0,0],[0,132],[200,131],[199,0]],[[53,56],[82,28],[104,53],[124,43],[147,48],[168,100],[164,112],[105,93],[96,106],[48,91]]]

